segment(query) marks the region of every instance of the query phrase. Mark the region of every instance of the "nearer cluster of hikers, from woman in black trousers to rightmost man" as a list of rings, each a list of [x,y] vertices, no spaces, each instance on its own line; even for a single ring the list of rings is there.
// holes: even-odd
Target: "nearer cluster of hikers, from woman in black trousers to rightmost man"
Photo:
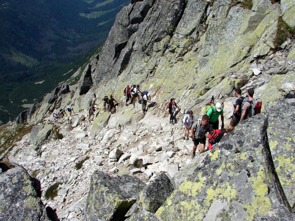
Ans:
[[[253,98],[254,90],[249,89],[245,98],[242,97],[241,93],[242,91],[240,88],[234,91],[234,95],[237,98],[233,105],[234,111],[230,117],[231,120],[226,128],[224,128],[223,107],[221,103],[214,104],[211,100],[210,104],[205,108],[205,114],[201,119],[197,120],[194,118],[193,111],[186,110],[182,121],[182,127],[184,129],[183,140],[189,140],[189,131],[191,131],[192,141],[194,142],[191,158],[195,157],[198,144],[201,146],[199,153],[205,151],[206,138],[209,138],[208,149],[212,149],[213,146],[216,145],[223,136],[230,133],[240,121],[260,113],[262,102],[260,98]],[[178,107],[174,98],[172,98],[168,103],[170,123],[173,123],[173,119],[175,118],[175,108]],[[219,116],[221,118],[221,129],[218,129]]]

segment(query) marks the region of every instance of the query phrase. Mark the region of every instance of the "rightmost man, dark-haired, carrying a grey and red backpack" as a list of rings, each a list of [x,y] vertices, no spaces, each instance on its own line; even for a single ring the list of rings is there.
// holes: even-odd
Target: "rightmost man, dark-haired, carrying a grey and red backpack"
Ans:
[[[254,90],[251,88],[247,91],[247,96],[244,98],[242,103],[242,116],[240,121],[252,117],[261,111],[261,99],[253,98]]]

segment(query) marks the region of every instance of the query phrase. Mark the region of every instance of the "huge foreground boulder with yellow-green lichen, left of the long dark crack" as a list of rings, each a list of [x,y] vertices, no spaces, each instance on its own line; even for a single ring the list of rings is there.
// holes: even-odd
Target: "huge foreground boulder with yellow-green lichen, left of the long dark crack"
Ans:
[[[165,220],[257,220],[280,204],[291,212],[273,166],[266,130],[267,118],[261,114],[239,123],[155,215]]]

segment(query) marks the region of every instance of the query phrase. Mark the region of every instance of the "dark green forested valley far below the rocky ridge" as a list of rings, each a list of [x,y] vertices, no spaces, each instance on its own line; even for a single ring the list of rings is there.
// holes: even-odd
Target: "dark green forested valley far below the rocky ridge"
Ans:
[[[16,95],[19,88],[42,79],[66,80],[66,76],[57,75],[63,76],[73,64],[78,69],[83,65],[78,61],[87,62],[89,52],[96,51],[105,41],[117,13],[129,3],[130,0],[0,0],[0,121],[13,120],[26,109],[21,106],[20,97],[28,102],[40,101],[60,81],[27,93],[30,97]]]

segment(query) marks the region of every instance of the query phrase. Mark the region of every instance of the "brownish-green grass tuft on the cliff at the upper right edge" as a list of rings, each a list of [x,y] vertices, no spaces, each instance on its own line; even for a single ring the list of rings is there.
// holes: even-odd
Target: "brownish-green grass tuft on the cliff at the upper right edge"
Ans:
[[[295,29],[291,28],[281,17],[278,17],[278,24],[276,30],[276,38],[273,43],[276,47],[280,47],[288,37],[293,37]]]

